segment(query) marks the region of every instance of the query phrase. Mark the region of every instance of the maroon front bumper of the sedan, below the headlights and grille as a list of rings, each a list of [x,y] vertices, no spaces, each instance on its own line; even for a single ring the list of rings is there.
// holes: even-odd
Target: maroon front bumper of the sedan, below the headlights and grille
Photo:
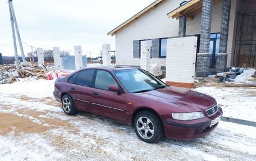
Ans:
[[[164,119],[164,131],[167,137],[192,140],[198,137],[203,137],[210,134],[218,123],[211,126],[211,121],[219,116],[222,116],[222,109],[209,118],[201,118],[190,121],[179,121],[172,118]]]

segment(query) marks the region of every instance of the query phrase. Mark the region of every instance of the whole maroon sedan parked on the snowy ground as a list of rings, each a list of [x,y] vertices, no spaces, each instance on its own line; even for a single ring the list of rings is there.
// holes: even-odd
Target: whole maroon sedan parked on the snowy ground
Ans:
[[[57,79],[53,94],[66,114],[87,111],[132,125],[148,143],[208,135],[222,116],[211,96],[167,86],[135,67],[85,68]]]

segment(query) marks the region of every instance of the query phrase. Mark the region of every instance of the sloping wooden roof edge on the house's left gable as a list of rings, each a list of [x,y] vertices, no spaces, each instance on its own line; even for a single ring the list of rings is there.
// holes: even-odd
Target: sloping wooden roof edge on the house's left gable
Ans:
[[[151,8],[157,6],[157,4],[161,3],[162,1],[164,1],[164,0],[157,0],[157,1],[154,1],[153,3],[149,4],[148,7],[144,8],[140,12],[136,13],[136,15],[132,16],[130,19],[126,20],[124,23],[117,26],[115,29],[109,31],[108,35],[112,35],[112,36],[115,35],[118,30],[120,30],[123,27],[125,27],[126,25],[130,24],[130,22],[136,20],[139,16],[143,15],[145,12],[149,11]]]

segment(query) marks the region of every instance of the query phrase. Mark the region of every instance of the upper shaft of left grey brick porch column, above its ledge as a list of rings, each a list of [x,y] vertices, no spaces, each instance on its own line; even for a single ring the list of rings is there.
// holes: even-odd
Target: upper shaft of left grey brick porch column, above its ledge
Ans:
[[[213,0],[203,0],[199,53],[208,53],[212,25]]]

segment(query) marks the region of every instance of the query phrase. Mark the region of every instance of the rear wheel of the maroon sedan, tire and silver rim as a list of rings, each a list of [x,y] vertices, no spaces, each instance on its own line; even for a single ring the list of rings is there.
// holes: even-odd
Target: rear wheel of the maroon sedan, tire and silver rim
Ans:
[[[69,94],[65,94],[61,100],[62,109],[67,115],[75,115],[77,113],[77,109],[75,108],[75,104],[73,99]]]

